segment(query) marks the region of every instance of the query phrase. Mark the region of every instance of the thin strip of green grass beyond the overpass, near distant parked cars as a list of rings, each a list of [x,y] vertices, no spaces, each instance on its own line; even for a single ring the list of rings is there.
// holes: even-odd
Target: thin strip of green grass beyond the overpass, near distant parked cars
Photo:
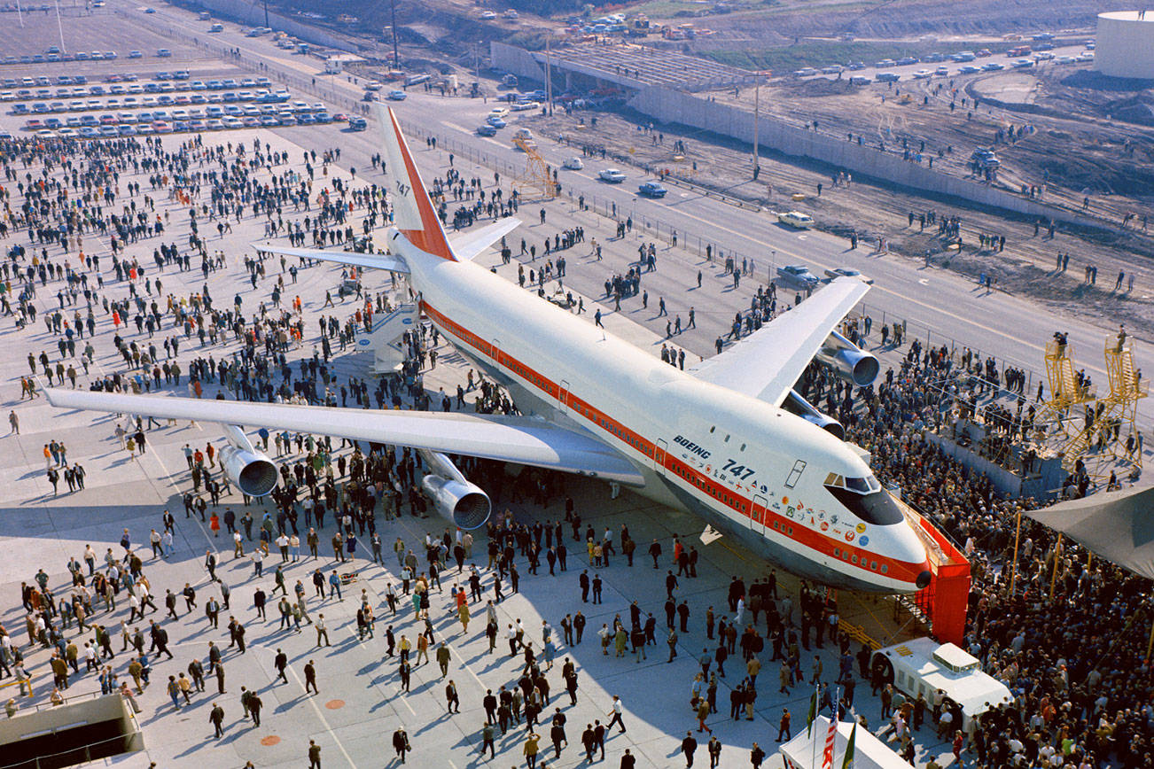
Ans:
[[[984,46],[998,53],[1020,43],[988,44]],[[930,53],[958,53],[973,51],[975,46],[967,43],[839,43],[834,40],[802,40],[795,45],[782,45],[772,48],[748,48],[733,51],[703,51],[698,55],[712,59],[724,65],[744,69],[770,69],[774,74],[785,74],[802,67],[827,67],[830,65],[847,65],[852,61],[864,61],[867,66],[882,59],[901,59],[904,56],[924,56]]]

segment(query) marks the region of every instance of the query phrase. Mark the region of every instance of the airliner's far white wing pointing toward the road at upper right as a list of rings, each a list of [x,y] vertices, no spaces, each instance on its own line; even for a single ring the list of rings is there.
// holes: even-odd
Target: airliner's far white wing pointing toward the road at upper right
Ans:
[[[856,278],[838,278],[691,370],[699,379],[780,406],[830,332],[868,291]]]

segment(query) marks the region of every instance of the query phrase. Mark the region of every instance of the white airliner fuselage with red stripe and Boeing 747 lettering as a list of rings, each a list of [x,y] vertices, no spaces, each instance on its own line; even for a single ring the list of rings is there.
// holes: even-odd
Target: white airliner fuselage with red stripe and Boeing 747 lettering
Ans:
[[[820,428],[685,374],[488,270],[425,254],[390,231],[422,309],[464,354],[628,457],[638,489],[702,514],[771,560],[834,587],[915,589],[929,568],[906,521],[856,519],[825,488],[870,476]]]

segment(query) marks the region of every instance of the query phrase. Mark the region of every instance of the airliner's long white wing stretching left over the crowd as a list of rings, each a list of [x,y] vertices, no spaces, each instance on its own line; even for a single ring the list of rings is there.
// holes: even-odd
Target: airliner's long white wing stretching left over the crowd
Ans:
[[[525,416],[364,410],[83,390],[48,389],[45,393],[48,402],[59,408],[313,432],[546,467],[627,485],[644,484],[632,462],[592,436]]]

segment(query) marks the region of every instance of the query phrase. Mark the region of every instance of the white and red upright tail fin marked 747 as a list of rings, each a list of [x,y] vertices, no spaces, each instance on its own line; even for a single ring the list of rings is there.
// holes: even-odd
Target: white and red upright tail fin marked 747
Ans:
[[[397,115],[383,105],[379,105],[377,114],[384,130],[382,154],[387,164],[389,194],[392,196],[394,224],[409,242],[426,254],[456,262],[457,257],[449,246],[433,201],[400,133]]]

